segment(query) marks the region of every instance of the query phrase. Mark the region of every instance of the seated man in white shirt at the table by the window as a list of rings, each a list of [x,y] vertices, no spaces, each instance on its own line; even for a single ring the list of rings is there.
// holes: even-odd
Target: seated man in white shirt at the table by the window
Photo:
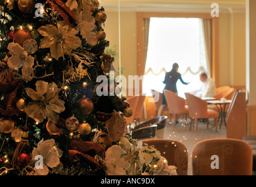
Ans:
[[[216,93],[216,86],[213,79],[208,78],[206,73],[200,74],[200,81],[203,82],[201,87],[193,92],[192,94],[200,94],[202,98],[212,97]]]

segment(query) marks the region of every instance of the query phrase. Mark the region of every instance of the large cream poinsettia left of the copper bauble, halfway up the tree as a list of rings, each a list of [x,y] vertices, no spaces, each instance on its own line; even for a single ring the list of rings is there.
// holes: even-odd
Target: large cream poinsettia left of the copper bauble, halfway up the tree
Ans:
[[[59,119],[58,113],[65,110],[65,102],[59,99],[58,88],[54,82],[48,84],[45,81],[37,81],[36,91],[26,88],[26,94],[33,102],[26,106],[25,112],[37,123],[43,122],[46,117],[56,123]]]

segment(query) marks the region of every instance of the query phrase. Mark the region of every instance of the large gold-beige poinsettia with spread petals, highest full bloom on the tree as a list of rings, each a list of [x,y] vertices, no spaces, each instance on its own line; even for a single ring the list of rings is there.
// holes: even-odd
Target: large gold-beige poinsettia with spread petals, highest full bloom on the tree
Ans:
[[[44,36],[40,40],[39,48],[50,48],[51,56],[56,60],[59,57],[64,58],[64,54],[70,54],[72,49],[81,46],[81,40],[76,36],[77,30],[67,25],[65,21],[57,22],[57,27],[41,26],[37,31]]]

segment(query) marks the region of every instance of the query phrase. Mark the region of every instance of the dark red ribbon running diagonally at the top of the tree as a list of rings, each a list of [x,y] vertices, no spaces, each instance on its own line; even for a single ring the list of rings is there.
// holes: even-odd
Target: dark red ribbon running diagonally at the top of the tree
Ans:
[[[59,12],[59,15],[62,16],[64,20],[66,20],[67,24],[70,27],[73,27],[74,25],[77,25],[76,16],[74,15],[74,12],[70,10],[70,8],[64,4],[63,1],[60,0],[47,0],[47,2],[52,6],[52,8]]]

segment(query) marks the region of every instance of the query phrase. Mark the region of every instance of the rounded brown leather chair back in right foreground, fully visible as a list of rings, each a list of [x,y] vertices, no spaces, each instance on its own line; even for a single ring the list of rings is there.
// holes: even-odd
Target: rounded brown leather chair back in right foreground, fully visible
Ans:
[[[193,175],[252,175],[252,148],[245,141],[232,138],[200,141],[192,149],[192,172]]]

